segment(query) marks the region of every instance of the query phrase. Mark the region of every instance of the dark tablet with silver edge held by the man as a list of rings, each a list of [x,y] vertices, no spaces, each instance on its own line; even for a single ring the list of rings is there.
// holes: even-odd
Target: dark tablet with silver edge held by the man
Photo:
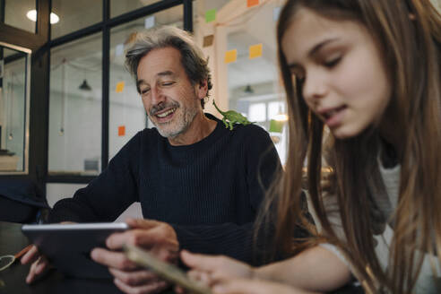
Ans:
[[[91,249],[106,247],[112,233],[129,229],[124,222],[23,225],[22,232],[60,272],[81,279],[111,279],[108,268],[91,260]]]

